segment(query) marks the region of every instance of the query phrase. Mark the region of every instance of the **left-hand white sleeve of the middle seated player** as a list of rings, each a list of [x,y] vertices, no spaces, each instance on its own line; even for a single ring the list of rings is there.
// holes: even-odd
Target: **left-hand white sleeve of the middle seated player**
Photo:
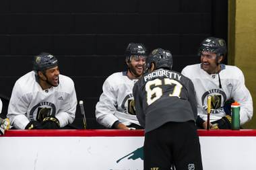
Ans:
[[[99,124],[110,128],[114,122],[119,120],[114,114],[117,111],[117,96],[115,89],[113,87],[113,83],[110,82],[109,79],[102,85],[102,94],[100,95],[100,99],[96,104],[96,120]]]

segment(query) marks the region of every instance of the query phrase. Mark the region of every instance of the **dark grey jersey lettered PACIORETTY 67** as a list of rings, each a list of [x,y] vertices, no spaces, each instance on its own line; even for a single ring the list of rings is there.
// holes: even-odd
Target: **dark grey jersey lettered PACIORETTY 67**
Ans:
[[[193,83],[175,71],[146,73],[133,87],[137,119],[145,132],[166,122],[195,121],[197,103]]]

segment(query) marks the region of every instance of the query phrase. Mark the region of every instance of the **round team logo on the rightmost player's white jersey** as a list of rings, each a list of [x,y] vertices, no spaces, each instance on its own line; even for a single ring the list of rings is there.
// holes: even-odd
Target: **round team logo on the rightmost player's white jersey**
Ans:
[[[203,109],[206,111],[207,110],[207,97],[212,96],[212,101],[211,101],[211,114],[218,114],[223,110],[222,103],[226,101],[226,94],[224,91],[221,91],[220,89],[211,89],[209,91],[206,91],[203,93],[201,97],[201,102],[203,105]]]

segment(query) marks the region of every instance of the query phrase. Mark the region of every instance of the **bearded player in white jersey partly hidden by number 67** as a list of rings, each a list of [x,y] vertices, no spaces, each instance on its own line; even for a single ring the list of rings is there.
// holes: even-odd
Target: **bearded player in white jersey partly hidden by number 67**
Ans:
[[[130,43],[126,49],[128,71],[114,73],[104,82],[100,100],[96,104],[96,120],[106,128],[142,128],[135,114],[133,85],[143,74],[146,48]]]

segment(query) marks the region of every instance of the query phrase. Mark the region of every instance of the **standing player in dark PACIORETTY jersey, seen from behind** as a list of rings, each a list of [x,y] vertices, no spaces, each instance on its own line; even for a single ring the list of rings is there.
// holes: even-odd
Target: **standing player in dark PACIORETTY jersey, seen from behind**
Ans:
[[[145,128],[144,169],[202,169],[193,83],[171,71],[168,50],[153,50],[148,73],[135,83],[137,118]]]

